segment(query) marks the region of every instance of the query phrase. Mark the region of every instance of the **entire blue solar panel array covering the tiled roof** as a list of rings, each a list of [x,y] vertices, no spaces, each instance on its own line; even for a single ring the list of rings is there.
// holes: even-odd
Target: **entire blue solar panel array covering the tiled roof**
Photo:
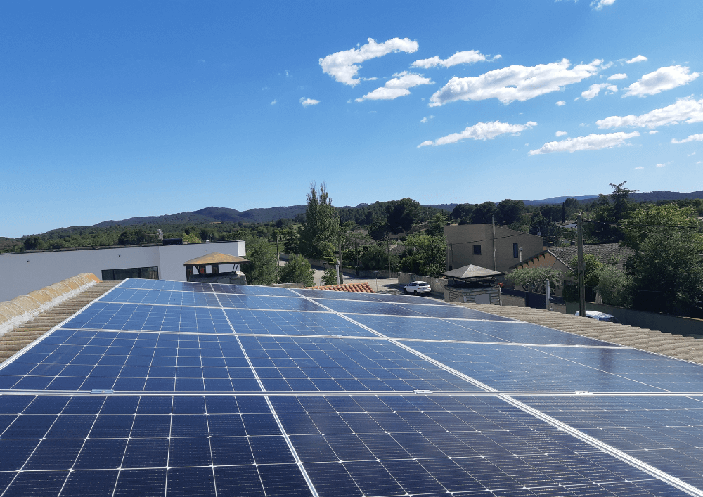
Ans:
[[[0,366],[0,492],[703,496],[702,374],[421,297],[125,280]]]

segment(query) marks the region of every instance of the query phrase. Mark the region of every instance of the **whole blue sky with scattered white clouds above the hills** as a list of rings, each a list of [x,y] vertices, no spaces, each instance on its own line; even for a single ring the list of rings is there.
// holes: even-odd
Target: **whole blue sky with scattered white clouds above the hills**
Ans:
[[[702,20],[699,0],[6,2],[0,235],[297,205],[311,181],[338,206],[700,190]]]

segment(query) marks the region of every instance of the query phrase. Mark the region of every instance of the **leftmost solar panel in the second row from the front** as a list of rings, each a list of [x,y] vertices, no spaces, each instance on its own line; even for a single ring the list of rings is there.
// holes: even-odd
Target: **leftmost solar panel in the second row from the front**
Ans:
[[[0,369],[0,389],[259,391],[236,337],[56,330]]]

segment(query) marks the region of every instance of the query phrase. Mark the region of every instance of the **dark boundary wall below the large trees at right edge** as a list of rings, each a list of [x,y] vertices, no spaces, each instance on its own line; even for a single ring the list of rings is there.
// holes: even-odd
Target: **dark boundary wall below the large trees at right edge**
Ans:
[[[567,314],[574,314],[579,310],[576,302],[567,302]],[[650,330],[674,333],[676,335],[703,335],[703,320],[696,318],[682,318],[654,312],[636,311],[623,307],[586,302],[586,311],[599,311],[612,314],[624,325],[649,328]]]

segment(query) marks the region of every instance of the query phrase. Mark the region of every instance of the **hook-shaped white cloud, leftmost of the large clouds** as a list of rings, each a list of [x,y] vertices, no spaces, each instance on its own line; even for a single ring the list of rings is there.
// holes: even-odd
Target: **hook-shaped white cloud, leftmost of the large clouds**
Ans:
[[[417,41],[411,41],[408,38],[392,38],[383,43],[376,43],[369,38],[368,43],[359,49],[336,52],[321,58],[320,65],[322,72],[335,78],[335,81],[356,86],[361,79],[354,79],[354,77],[361,67],[359,64],[364,60],[382,57],[391,52],[413,53],[418,50],[419,46]]]

